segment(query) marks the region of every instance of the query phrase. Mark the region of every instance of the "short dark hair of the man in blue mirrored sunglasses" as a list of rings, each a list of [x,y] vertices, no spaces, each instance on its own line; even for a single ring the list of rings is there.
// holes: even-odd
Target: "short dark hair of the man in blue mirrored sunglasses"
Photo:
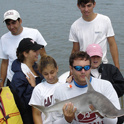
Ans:
[[[69,58],[69,65],[73,66],[74,60],[76,59],[85,60],[85,61],[89,60],[91,65],[91,58],[86,52],[79,51],[72,53]]]

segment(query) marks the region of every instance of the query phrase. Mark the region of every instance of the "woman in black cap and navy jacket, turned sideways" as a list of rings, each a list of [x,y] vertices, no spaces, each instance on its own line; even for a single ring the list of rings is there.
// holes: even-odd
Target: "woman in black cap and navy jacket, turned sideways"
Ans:
[[[28,102],[34,87],[43,79],[43,76],[37,70],[36,64],[39,50],[42,47],[42,45],[37,44],[30,38],[23,39],[17,48],[17,59],[12,64],[14,76],[10,83],[10,88],[13,94],[18,96],[16,103],[21,103],[21,106],[19,104],[17,104],[17,106],[24,124],[33,124],[32,111]],[[28,80],[30,80],[29,75],[31,74],[35,77],[33,84],[28,82]]]

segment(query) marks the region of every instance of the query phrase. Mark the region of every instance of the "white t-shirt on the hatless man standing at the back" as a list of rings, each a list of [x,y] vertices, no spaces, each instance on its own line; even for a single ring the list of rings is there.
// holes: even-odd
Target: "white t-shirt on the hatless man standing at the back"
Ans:
[[[86,51],[89,44],[99,44],[103,50],[103,63],[107,63],[107,37],[114,36],[109,17],[97,14],[90,22],[82,17],[76,20],[70,29],[69,41],[79,42],[80,51]]]

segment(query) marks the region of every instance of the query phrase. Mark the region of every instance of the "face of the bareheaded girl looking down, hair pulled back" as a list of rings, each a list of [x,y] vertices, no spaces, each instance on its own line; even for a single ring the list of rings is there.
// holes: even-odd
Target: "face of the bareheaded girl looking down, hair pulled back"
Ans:
[[[54,65],[47,65],[46,68],[43,69],[42,75],[46,79],[46,81],[50,84],[55,84],[58,82],[58,68],[55,68]]]

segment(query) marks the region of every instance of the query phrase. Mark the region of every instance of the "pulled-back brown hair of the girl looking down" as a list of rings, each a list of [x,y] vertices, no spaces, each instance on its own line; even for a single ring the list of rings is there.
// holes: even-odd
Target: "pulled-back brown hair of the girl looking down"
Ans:
[[[43,55],[38,63],[39,72],[42,74],[43,70],[47,67],[47,65],[53,65],[57,69],[56,61],[48,55]]]

